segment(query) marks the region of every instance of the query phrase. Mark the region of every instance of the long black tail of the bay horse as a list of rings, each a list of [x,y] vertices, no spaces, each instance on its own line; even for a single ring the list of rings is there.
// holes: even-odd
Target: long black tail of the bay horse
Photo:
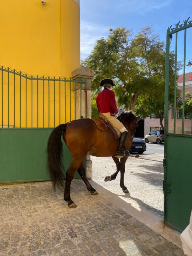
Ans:
[[[50,134],[47,144],[47,167],[54,190],[56,186],[60,189],[64,187],[61,135],[65,131],[66,124],[57,126]]]

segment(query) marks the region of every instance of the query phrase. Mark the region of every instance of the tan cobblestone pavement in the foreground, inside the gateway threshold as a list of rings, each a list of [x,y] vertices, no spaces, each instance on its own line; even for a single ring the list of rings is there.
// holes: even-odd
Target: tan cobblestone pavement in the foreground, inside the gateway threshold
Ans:
[[[97,190],[73,180],[70,209],[51,182],[0,186],[0,256],[184,255]]]

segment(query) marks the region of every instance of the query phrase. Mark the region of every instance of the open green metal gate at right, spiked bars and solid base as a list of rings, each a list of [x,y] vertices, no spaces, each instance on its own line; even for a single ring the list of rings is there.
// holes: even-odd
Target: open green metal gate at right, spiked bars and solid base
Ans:
[[[192,210],[192,112],[187,113],[186,119],[186,42],[188,32],[192,27],[189,18],[182,24],[178,22],[174,28],[167,30],[166,38],[166,82],[165,82],[165,146],[164,146],[164,222],[178,231],[184,230],[189,224]],[[178,65],[178,39],[182,40],[183,51],[183,85],[182,104],[179,107],[176,98],[177,85],[177,65]],[[169,71],[170,71],[170,44],[174,44],[175,52],[175,91],[174,104],[169,107]],[[180,46],[181,47],[181,46]],[[191,57],[191,56],[187,56]],[[176,115],[178,114],[178,115]],[[172,116],[171,116],[172,115]],[[178,118],[181,118],[179,120]],[[190,127],[189,127],[190,124]]]

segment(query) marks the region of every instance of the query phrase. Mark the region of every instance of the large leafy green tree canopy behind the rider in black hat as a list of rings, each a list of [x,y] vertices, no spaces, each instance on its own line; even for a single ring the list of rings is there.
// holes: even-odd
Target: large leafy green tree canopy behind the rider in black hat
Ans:
[[[118,105],[124,105],[125,109],[138,112],[146,108],[142,104],[148,104],[148,106],[153,104],[151,112],[162,116],[165,43],[153,33],[152,27],[144,27],[135,38],[132,38],[132,31],[124,27],[110,29],[108,38],[96,41],[94,50],[82,65],[95,72],[92,82],[94,92],[100,92],[101,79],[110,77],[117,84],[114,90]],[[173,88],[174,53],[172,52],[170,54],[170,102],[174,100]],[[144,116],[144,113],[142,115]],[[160,122],[162,123],[162,118]]]

